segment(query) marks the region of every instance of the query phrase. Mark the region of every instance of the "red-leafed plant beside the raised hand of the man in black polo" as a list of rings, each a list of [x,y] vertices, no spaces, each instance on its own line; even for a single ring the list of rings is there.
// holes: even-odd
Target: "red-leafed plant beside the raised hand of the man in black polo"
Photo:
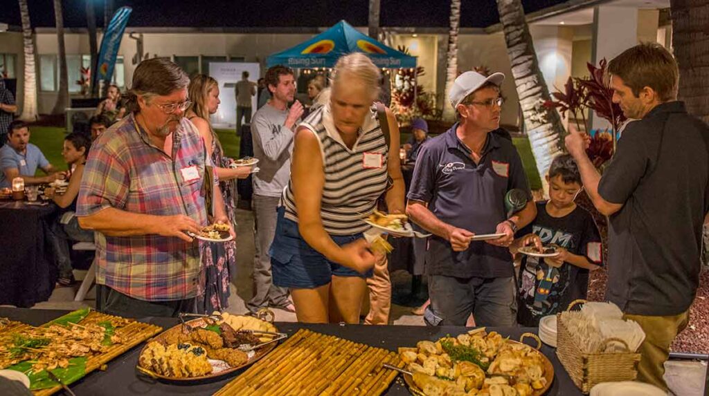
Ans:
[[[569,77],[569,80],[564,84],[564,92],[552,93],[556,100],[547,100],[544,103],[547,108],[558,108],[562,115],[566,115],[567,111],[571,112],[576,120],[576,127],[579,129],[581,129],[581,125],[578,116],[581,115],[584,130],[589,130],[586,122],[586,109],[595,111],[598,117],[610,122],[612,131],[599,131],[591,136],[591,144],[586,149],[588,158],[591,159],[593,165],[596,165],[596,168],[601,168],[601,165],[613,156],[615,147],[613,136],[618,133],[620,126],[626,120],[620,106],[613,103],[613,90],[605,80],[606,66],[608,66],[608,62],[605,61],[605,58],[601,59],[598,67],[589,63],[590,76],[588,78]]]

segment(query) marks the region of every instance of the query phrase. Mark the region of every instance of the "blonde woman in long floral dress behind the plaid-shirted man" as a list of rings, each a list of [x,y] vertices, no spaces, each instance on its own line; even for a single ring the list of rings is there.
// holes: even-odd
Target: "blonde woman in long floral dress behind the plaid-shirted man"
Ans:
[[[235,190],[234,179],[242,179],[251,172],[250,167],[229,168],[230,159],[224,156],[217,134],[209,123],[209,115],[216,113],[219,107],[219,86],[210,76],[199,74],[189,83],[189,98],[192,104],[187,110],[187,117],[199,130],[204,140],[207,153],[216,167],[219,187],[224,201],[226,215],[234,222]],[[198,310],[212,313],[214,310],[224,310],[228,306],[230,268],[236,268],[236,243],[203,243],[202,262],[205,265],[206,284],[203,300],[198,298]]]

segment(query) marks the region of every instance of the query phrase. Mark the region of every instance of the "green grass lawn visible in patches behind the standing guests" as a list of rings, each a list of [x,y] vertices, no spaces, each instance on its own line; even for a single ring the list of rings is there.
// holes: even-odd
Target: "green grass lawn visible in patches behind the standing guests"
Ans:
[[[59,127],[32,127],[32,135],[30,142],[37,145],[47,157],[48,161],[55,165],[60,170],[65,170],[67,164],[62,158],[62,141],[65,136],[65,128]],[[234,129],[217,129],[219,141],[224,148],[226,156],[231,158],[239,158],[239,141]],[[408,136],[401,136],[401,141],[406,141]],[[532,190],[542,188],[542,181],[537,173],[537,165],[535,165],[534,157],[532,157],[532,148],[527,138],[514,138],[513,142],[522,157],[522,163],[525,167],[525,173],[530,180]]]

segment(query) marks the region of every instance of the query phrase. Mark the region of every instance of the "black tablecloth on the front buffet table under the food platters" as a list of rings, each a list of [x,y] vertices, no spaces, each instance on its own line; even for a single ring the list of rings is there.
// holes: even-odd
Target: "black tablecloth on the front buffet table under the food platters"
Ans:
[[[20,308],[0,308],[0,317],[19,320],[30,325],[41,325],[49,320],[58,318],[69,311],[66,310],[28,310]],[[140,318],[144,322],[160,325],[164,328],[177,325],[174,318]],[[294,334],[305,327],[316,332],[332,334],[354,342],[361,342],[372,347],[380,347],[396,351],[398,347],[412,347],[422,339],[435,340],[446,334],[457,335],[469,330],[466,327],[423,327],[423,326],[365,326],[365,325],[305,325],[303,323],[277,322],[276,326],[282,332]],[[518,339],[526,331],[535,332],[535,329],[510,327],[491,328],[512,339]],[[143,344],[138,345],[118,356],[108,363],[108,370],[94,371],[85,378],[71,385],[77,395],[212,395],[223,388],[238,373],[226,375],[223,379],[211,383],[194,385],[178,385],[175,383],[161,383],[145,378],[135,373],[138,355]],[[576,385],[562,368],[559,359],[554,354],[554,349],[542,347],[545,354],[554,366],[554,383],[549,388],[549,396],[581,395]],[[394,381],[385,395],[410,395],[405,385]]]

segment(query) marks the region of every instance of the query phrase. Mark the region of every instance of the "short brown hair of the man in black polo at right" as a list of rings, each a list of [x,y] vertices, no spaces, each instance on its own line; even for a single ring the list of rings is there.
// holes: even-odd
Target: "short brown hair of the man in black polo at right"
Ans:
[[[608,74],[623,79],[636,98],[646,86],[657,93],[661,102],[677,98],[677,62],[657,43],[642,43],[623,51],[608,62]]]

